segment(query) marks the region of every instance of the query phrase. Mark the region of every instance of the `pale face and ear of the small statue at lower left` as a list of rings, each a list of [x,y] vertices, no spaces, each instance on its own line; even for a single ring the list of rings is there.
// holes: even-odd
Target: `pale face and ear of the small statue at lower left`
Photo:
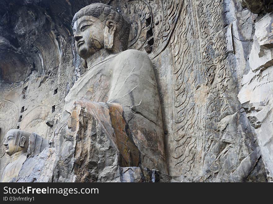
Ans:
[[[5,146],[6,153],[9,156],[25,149],[24,145],[25,145],[26,138],[24,136],[22,137],[17,136],[18,131],[19,130],[10,130],[6,134],[3,145]],[[17,137],[20,137],[19,141]]]

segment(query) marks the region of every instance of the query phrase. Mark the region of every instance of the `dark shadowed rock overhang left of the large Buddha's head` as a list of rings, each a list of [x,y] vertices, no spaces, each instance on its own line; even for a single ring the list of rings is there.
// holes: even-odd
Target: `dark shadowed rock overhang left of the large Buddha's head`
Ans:
[[[1,0],[0,80],[24,80],[59,65],[61,41],[72,37],[74,14],[96,0]],[[108,3],[109,0],[100,1]]]

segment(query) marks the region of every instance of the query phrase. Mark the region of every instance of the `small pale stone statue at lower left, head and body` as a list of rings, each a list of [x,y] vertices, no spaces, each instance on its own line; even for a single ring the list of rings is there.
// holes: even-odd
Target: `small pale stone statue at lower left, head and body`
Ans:
[[[14,182],[27,158],[30,133],[11,129],[7,132],[3,145],[10,162],[5,167],[1,182]]]

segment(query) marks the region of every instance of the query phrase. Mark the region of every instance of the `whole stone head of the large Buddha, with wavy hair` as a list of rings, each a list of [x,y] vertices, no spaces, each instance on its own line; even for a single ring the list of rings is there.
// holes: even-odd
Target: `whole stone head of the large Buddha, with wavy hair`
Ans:
[[[107,4],[83,7],[74,15],[72,27],[76,51],[85,60],[101,49],[113,54],[127,49],[128,23],[119,11]]]

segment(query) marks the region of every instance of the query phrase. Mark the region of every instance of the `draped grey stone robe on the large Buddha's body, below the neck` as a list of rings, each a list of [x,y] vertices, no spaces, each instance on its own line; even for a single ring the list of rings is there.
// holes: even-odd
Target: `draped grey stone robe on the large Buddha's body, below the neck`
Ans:
[[[86,125],[78,122],[83,109],[96,118],[99,129],[118,152],[120,167],[139,166],[168,173],[157,82],[147,54],[126,50],[88,67],[65,97],[57,134],[68,134],[68,129],[76,131],[79,126],[87,129],[88,123],[92,123],[91,118],[87,119],[89,122]],[[68,124],[66,133],[61,130],[64,123]],[[93,154],[89,145],[94,145],[94,141],[86,139],[90,137],[92,140],[92,135],[101,133],[98,133],[98,127],[92,127],[92,131],[85,134],[77,133],[77,137],[81,138],[74,144],[74,158],[78,158],[75,163],[84,168],[90,165],[90,161],[83,165],[82,158],[91,157],[86,155]],[[85,150],[89,152],[83,153]],[[75,167],[73,169],[76,171]],[[77,171],[84,171],[82,169],[78,168]],[[89,173],[78,173],[83,174]]]

